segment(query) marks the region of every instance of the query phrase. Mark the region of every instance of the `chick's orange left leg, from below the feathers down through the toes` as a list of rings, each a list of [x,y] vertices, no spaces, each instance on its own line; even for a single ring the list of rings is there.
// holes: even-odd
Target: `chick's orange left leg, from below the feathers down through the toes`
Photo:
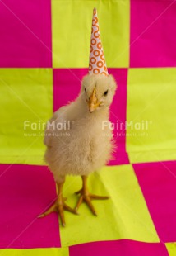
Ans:
[[[50,206],[47,211],[45,211],[43,214],[39,215],[39,218],[48,216],[49,213],[56,211],[56,212],[58,212],[58,215],[60,216],[62,225],[65,226],[66,223],[65,223],[65,218],[64,218],[64,210],[70,211],[74,214],[77,214],[77,212],[76,212],[76,210],[72,209],[70,206],[67,206],[67,204],[65,203],[66,198],[63,197],[63,184],[64,184],[64,181],[62,183],[57,183],[58,198],[56,199],[56,201],[54,201],[53,205]]]

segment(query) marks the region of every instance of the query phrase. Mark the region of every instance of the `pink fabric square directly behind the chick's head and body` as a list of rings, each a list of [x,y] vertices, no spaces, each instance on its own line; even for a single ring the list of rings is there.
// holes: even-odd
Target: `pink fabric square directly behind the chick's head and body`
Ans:
[[[81,88],[81,79],[88,73],[88,69],[53,69],[53,111],[75,100]],[[118,90],[110,109],[110,120],[113,123],[126,120],[127,106],[127,69],[109,69],[118,83]],[[114,160],[109,164],[128,164],[128,156],[125,149],[125,127],[115,127],[114,138],[118,149],[114,154]]]

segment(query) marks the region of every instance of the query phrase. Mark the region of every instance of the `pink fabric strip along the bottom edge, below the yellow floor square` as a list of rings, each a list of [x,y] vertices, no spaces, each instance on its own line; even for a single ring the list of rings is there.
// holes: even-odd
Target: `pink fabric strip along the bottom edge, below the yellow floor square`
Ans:
[[[79,244],[69,248],[70,256],[169,256],[164,244],[141,243],[132,240]]]

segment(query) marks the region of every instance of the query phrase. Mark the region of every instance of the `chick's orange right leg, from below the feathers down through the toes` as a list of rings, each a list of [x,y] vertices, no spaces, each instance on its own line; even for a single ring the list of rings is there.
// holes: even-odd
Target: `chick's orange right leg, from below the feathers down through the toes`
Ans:
[[[76,208],[75,210],[77,211],[79,206],[81,206],[81,203],[83,201],[86,202],[87,206],[89,206],[90,210],[92,211],[92,213],[97,216],[95,208],[91,202],[91,199],[100,199],[100,200],[104,200],[104,199],[109,199],[109,197],[102,197],[102,196],[96,196],[94,194],[90,194],[88,187],[87,187],[87,176],[83,175],[81,176],[82,178],[82,188],[81,190],[79,190],[78,192],[76,192],[76,194],[81,194],[79,200],[77,201],[76,204]]]

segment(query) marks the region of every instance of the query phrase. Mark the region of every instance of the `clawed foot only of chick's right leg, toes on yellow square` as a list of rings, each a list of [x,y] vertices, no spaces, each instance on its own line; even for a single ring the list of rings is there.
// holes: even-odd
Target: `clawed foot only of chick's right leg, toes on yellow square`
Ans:
[[[96,196],[93,194],[90,194],[89,192],[83,192],[83,190],[79,190],[78,192],[76,192],[76,194],[81,194],[79,200],[77,201],[76,204],[76,208],[75,210],[77,211],[79,209],[79,207],[81,206],[81,203],[83,201],[86,202],[87,206],[89,206],[90,210],[92,211],[92,213],[97,216],[97,213],[95,211],[95,208],[91,202],[91,199],[98,199],[98,200],[104,200],[104,199],[109,199],[110,197],[102,197],[102,196]]]

